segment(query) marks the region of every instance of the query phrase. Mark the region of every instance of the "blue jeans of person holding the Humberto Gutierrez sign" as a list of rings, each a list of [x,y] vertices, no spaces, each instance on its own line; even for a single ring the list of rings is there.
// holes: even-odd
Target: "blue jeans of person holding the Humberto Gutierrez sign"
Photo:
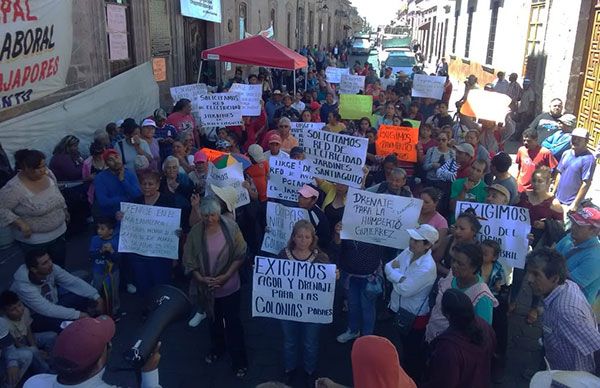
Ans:
[[[344,274],[344,276],[349,276]],[[365,293],[368,279],[351,276],[348,281],[348,329],[352,333],[371,335],[375,329],[375,302],[377,296]]]

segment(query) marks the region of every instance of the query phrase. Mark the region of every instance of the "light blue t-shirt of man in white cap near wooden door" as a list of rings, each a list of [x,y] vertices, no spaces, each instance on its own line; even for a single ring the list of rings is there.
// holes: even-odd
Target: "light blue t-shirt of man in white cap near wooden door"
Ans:
[[[572,204],[583,181],[591,180],[594,176],[595,168],[596,159],[591,152],[586,150],[581,155],[575,155],[575,151],[572,149],[565,152],[557,167],[560,172],[560,181],[555,197],[560,203]]]

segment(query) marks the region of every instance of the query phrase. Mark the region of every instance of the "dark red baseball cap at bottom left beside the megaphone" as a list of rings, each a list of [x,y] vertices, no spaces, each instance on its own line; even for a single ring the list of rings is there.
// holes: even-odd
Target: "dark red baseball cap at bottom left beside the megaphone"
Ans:
[[[52,356],[59,372],[77,372],[92,366],[115,335],[115,323],[107,315],[81,318],[56,338]]]

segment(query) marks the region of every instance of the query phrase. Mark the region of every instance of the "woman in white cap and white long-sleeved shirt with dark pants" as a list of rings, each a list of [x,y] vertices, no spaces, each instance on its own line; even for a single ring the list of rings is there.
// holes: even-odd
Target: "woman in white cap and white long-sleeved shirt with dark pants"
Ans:
[[[393,287],[390,310],[397,313],[402,308],[416,316],[408,334],[401,338],[402,348],[409,350],[403,352],[402,365],[415,381],[419,381],[425,364],[422,343],[429,319],[429,293],[437,276],[431,247],[439,234],[427,224],[407,232],[410,236],[408,249],[386,264],[385,275]]]

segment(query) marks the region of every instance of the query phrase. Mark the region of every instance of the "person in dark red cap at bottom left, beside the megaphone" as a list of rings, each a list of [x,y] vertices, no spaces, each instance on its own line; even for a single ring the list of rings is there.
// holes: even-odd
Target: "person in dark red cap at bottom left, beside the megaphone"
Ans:
[[[52,350],[56,375],[41,374],[25,382],[26,388],[111,388],[102,380],[108,362],[115,323],[106,316],[83,318],[65,328]],[[142,388],[160,388],[158,363],[160,342],[142,367]]]

